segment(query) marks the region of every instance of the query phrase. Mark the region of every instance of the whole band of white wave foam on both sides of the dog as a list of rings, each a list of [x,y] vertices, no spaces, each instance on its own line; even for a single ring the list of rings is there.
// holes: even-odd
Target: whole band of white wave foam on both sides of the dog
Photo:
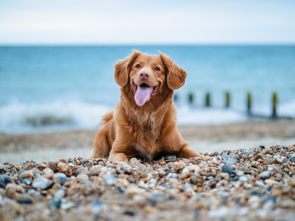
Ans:
[[[54,103],[11,102],[0,106],[0,132],[38,133],[93,129],[114,107],[80,101]],[[269,116],[269,113],[265,113]],[[295,116],[295,100],[278,107],[279,116]],[[247,121],[244,112],[232,109],[177,107],[179,125],[226,124]],[[40,121],[45,119],[45,123]],[[33,123],[32,123],[33,122]],[[35,123],[34,123],[35,122]],[[36,123],[37,122],[37,123]]]

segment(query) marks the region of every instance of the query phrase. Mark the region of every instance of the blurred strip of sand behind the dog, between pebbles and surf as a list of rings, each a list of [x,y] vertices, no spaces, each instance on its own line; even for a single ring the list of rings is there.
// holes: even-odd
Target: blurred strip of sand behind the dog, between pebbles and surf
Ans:
[[[295,144],[294,121],[252,121],[215,126],[178,126],[182,136],[198,152],[255,148],[260,145]],[[34,134],[0,134],[0,163],[57,161],[88,158],[99,128]]]

